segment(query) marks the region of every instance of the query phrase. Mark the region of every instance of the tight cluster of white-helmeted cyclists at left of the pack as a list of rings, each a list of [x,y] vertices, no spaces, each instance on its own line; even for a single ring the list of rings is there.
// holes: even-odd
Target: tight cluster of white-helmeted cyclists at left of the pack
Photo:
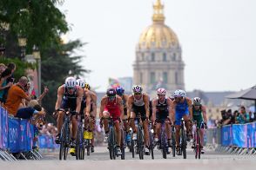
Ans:
[[[97,113],[97,95],[90,90],[90,85],[83,79],[68,77],[65,83],[57,88],[57,101],[55,114],[57,114],[57,136],[56,143],[60,143],[60,133],[63,126],[64,113],[71,113],[71,149],[70,154],[75,156],[77,139],[77,116],[84,117],[84,138],[91,139],[91,153],[94,152],[94,130],[95,117]]]

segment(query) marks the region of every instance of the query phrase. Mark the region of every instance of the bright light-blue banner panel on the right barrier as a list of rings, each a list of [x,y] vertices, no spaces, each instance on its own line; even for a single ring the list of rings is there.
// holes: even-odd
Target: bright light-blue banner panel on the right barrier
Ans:
[[[232,125],[232,144],[237,147],[247,147],[246,124]]]

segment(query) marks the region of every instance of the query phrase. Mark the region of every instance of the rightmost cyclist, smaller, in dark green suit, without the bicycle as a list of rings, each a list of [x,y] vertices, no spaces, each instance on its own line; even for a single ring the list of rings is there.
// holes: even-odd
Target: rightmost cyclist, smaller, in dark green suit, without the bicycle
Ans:
[[[204,118],[204,119],[203,119]],[[197,121],[197,127],[199,127],[201,144],[203,144],[204,139],[204,128],[207,127],[207,116],[206,116],[206,108],[201,104],[201,99],[199,97],[195,97],[192,103],[192,121]],[[195,140],[194,140],[195,141]],[[203,145],[201,145],[201,154],[205,154],[205,150]],[[195,147],[194,143],[192,148]]]

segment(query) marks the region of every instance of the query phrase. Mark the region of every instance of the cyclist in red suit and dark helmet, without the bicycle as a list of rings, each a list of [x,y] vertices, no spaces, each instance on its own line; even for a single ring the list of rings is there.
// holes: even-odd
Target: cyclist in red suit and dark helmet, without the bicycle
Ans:
[[[124,106],[120,96],[117,95],[115,88],[108,88],[106,95],[100,101],[99,118],[104,124],[105,138],[104,141],[108,141],[109,137],[109,121],[108,118],[113,118],[114,126],[117,135],[117,147],[116,151],[118,155],[121,155],[121,127],[120,121],[124,117]]]

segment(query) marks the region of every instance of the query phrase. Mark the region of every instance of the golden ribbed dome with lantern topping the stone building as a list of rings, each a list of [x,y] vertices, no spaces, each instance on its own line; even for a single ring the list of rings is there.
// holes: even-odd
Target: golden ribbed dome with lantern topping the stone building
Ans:
[[[139,49],[170,48],[179,45],[179,40],[171,28],[165,25],[164,5],[160,0],[153,5],[152,25],[147,27],[139,37]]]

